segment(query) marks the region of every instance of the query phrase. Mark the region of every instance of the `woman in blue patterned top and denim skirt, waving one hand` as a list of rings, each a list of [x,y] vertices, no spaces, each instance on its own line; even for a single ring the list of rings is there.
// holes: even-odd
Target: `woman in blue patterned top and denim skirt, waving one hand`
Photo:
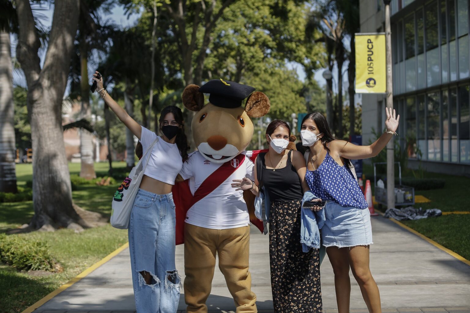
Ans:
[[[381,312],[379,290],[369,269],[370,213],[349,159],[376,156],[396,134],[399,115],[395,117],[392,109],[385,111],[386,131],[367,146],[334,138],[326,118],[318,112],[302,121],[302,144],[308,147],[305,180],[315,196],[327,200],[321,239],[335,274],[338,313],[349,313],[350,268],[369,312]]]

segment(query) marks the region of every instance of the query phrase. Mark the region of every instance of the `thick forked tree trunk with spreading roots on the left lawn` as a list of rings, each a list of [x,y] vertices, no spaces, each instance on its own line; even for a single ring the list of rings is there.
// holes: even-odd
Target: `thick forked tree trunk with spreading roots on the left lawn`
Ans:
[[[29,0],[16,1],[20,32],[16,55],[28,84],[28,115],[33,149],[34,216],[29,229],[52,231],[93,227],[101,215],[72,204],[70,174],[62,129],[62,100],[77,32],[79,1],[55,2],[43,69],[39,37]]]

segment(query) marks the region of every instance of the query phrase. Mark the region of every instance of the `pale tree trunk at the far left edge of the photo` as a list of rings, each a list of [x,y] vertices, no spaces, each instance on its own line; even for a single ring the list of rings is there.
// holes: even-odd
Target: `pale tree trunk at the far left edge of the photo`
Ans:
[[[0,31],[0,192],[17,192],[10,34]]]

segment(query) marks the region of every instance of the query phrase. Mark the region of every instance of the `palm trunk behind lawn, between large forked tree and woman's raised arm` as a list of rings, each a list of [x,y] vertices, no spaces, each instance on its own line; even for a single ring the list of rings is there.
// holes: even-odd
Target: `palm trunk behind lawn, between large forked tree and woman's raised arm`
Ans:
[[[91,120],[90,107],[90,90],[88,85],[88,49],[86,41],[80,45],[80,96],[82,100],[82,108],[80,112],[81,118]],[[96,178],[94,172],[93,160],[93,134],[88,130],[80,130],[80,177],[86,179]]]

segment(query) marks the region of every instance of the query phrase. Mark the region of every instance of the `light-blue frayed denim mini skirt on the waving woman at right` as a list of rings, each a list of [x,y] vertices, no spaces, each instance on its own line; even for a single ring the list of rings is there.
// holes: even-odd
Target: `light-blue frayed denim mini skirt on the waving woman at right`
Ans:
[[[323,210],[325,224],[321,228],[321,240],[325,247],[344,248],[373,244],[368,208],[345,207],[334,201],[327,201]]]

